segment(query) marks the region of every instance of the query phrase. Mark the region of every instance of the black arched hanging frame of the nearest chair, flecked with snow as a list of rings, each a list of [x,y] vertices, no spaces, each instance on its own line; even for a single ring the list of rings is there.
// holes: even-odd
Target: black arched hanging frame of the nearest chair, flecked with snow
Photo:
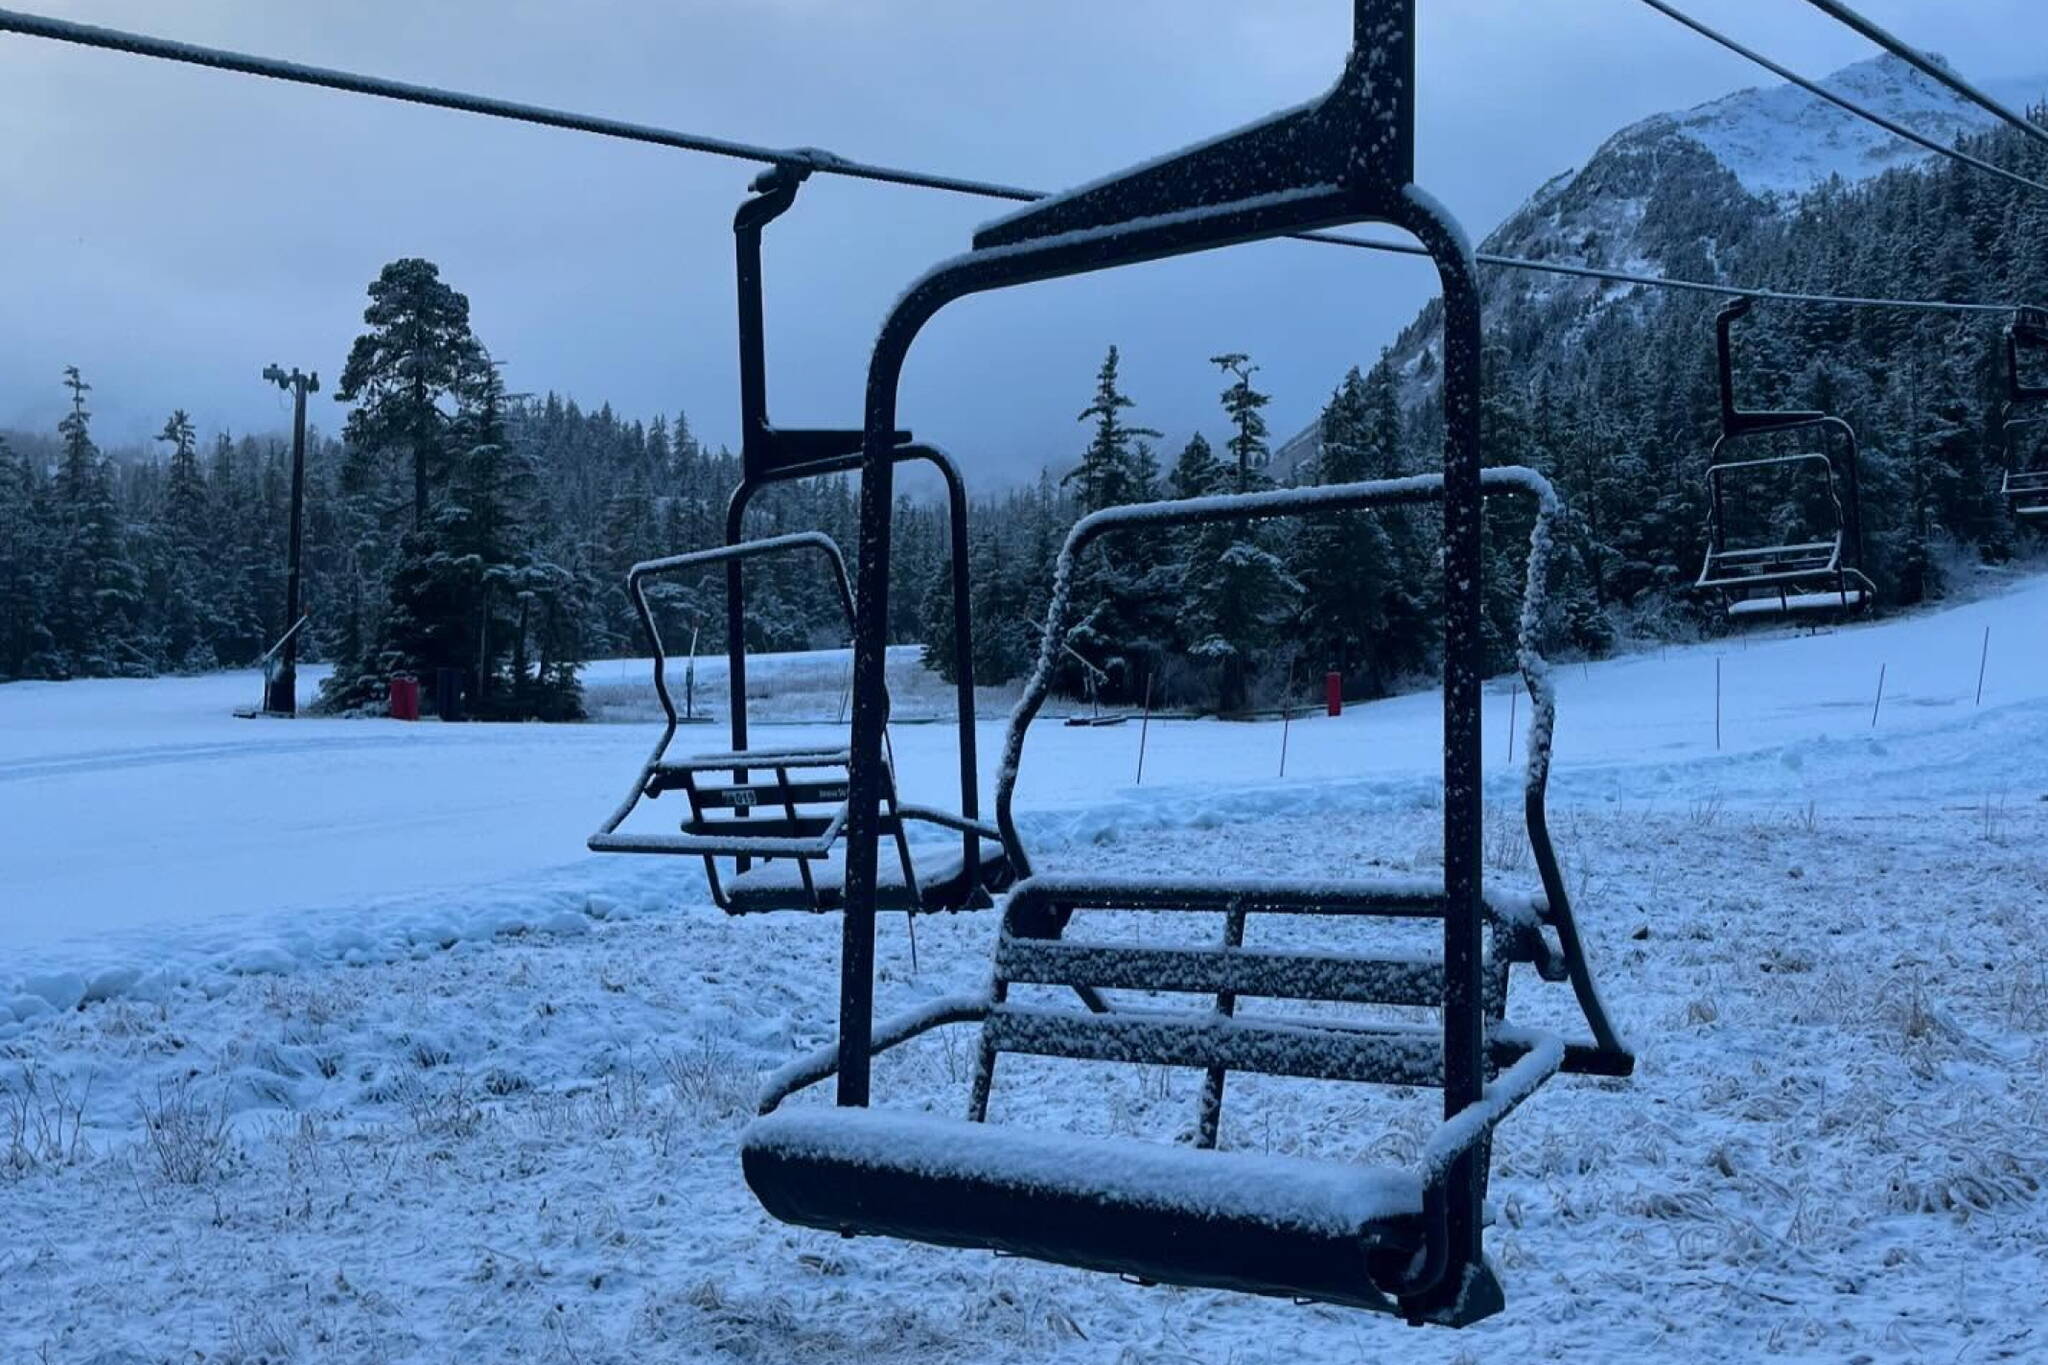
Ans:
[[[1350,57],[1321,100],[997,219],[975,235],[975,250],[930,270],[889,313],[868,364],[862,440],[840,1105],[866,1105],[870,1091],[897,385],[920,329],[975,293],[1368,221],[1415,235],[1442,278],[1446,1115],[1481,1099],[1479,289],[1468,239],[1413,184],[1413,168],[1415,0],[1354,0]],[[1481,1173],[1475,1152],[1444,1173],[1452,1263],[1479,1257]]]

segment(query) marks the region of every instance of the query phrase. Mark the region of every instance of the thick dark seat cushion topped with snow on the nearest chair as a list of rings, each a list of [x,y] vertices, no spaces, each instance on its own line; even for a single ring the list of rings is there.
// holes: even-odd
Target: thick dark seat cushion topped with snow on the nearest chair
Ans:
[[[776,1218],[1139,1279],[1380,1312],[1421,1244],[1409,1171],[801,1107],[756,1119],[748,1185]],[[1483,1269],[1483,1267],[1481,1267]],[[1475,1308],[1497,1285],[1475,1285]]]

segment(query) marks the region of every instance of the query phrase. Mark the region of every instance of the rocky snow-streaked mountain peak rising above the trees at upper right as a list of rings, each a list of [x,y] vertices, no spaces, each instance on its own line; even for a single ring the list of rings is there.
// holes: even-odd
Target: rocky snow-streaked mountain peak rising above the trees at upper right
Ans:
[[[1944,143],[1995,123],[1892,55],[1858,61],[1821,84]],[[1993,86],[2021,106],[2044,90],[2048,78]],[[1931,151],[1796,86],[1739,90],[1628,125],[1585,166],[1544,182],[1481,250],[1634,274],[1722,278],[1722,260],[1759,223],[1792,213],[1808,190],[1929,160]],[[1505,336],[1518,350],[1569,346],[1606,309],[1661,303],[1655,291],[1526,270],[1483,270],[1481,295],[1489,336]],[[1434,397],[1438,358],[1438,313],[1430,305],[1391,348],[1405,407]],[[1274,473],[1282,479],[1294,473],[1315,456],[1317,442],[1311,424],[1276,450]]]

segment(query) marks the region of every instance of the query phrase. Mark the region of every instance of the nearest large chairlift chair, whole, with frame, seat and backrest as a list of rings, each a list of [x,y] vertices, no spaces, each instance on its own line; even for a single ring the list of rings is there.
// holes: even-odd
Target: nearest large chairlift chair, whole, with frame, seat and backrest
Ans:
[[[1501,1306],[1481,1250],[1493,1128],[1559,1070],[1626,1074],[1630,1054],[1608,1025],[1550,851],[1542,792],[1552,694],[1532,630],[1544,555],[1532,557],[1524,608],[1524,677],[1534,706],[1526,810],[1540,896],[1483,886],[1481,796],[1481,516],[1483,493],[1542,503],[1536,548],[1554,499],[1530,471],[1479,460],[1479,295],[1466,239],[1413,186],[1415,0],[1356,0],[1343,78],[1323,100],[1245,131],[1112,176],[999,219],[975,250],[926,274],[883,327],[868,389],[864,544],[887,544],[895,385],[915,332],[944,303],[1141,260],[1356,221],[1399,225],[1421,239],[1444,284],[1444,473],[1384,483],[1282,489],[1098,512],[1075,526],[1059,559],[1049,626],[1030,690],[1012,716],[997,782],[997,823],[1012,866],[1026,874],[1004,913],[993,986],[872,1025],[874,870],[885,829],[881,645],[887,563],[860,563],[848,909],[842,919],[840,1038],[786,1066],[743,1138],[748,1183],[786,1222],[844,1234],[899,1236],[989,1248],[1139,1281],[1210,1285],[1395,1312],[1462,1326]],[[1444,508],[1444,874],[1427,880],[1339,882],[1149,880],[1028,876],[1012,819],[1024,735],[1044,702],[1063,639],[1079,551],[1128,526],[1171,526],[1346,508],[1442,501]],[[1079,943],[1063,931],[1090,911],[1186,911],[1223,919],[1214,948]],[[1343,956],[1245,948],[1251,913],[1384,917],[1438,925],[1432,956]],[[1315,921],[1325,923],[1325,921]],[[1536,964],[1569,978],[1591,1042],[1505,1021],[1507,968]],[[1083,995],[1085,1009],[1022,1003],[1014,986]],[[1200,1009],[1118,1007],[1104,990],[1212,997]],[[1251,997],[1305,1001],[1309,1017],[1243,1007]],[[1333,1019],[1329,1003],[1440,1011],[1407,1027]],[[979,1021],[981,1048],[967,1119],[870,1111],[872,1054],[942,1023]],[[995,1058],[1024,1052],[1204,1072],[1192,1146],[1075,1138],[985,1124]],[[1444,1124],[1417,1162],[1352,1162],[1217,1150],[1227,1072],[1442,1087]],[[780,1101],[825,1076],[838,1105]]]

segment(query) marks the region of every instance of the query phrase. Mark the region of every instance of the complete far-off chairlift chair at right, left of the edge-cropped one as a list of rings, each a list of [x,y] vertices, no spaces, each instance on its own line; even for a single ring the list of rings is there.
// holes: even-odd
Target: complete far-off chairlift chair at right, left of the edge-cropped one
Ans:
[[[1729,332],[1751,309],[1737,299],[1714,319],[1720,368],[1720,438],[1706,471],[1708,544],[1698,591],[1718,593],[1733,622],[1778,620],[1798,614],[1849,616],[1872,604],[1874,583],[1864,575],[1862,508],[1855,489],[1855,428],[1821,411],[1747,411],[1735,405],[1735,360]],[[1729,446],[1776,432],[1833,434],[1837,454],[1802,450],[1747,460],[1726,458]],[[1733,514],[1786,475],[1823,493],[1825,526],[1800,538],[1731,528]]]

